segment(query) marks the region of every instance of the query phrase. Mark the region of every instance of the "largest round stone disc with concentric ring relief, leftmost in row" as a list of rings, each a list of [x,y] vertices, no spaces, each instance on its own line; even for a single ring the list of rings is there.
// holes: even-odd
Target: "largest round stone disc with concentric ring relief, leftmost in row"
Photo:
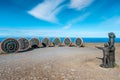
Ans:
[[[6,53],[14,53],[19,49],[19,43],[16,39],[7,38],[1,43],[1,49]]]

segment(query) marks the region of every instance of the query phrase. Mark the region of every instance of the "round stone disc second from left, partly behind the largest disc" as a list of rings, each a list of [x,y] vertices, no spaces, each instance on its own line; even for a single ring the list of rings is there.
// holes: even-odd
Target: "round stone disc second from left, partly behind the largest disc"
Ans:
[[[20,38],[18,42],[20,43],[20,51],[24,51],[29,48],[29,41],[26,38]]]

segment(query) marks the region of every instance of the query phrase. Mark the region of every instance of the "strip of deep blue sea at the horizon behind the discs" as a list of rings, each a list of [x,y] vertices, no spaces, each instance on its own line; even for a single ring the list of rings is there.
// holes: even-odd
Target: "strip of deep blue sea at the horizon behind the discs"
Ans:
[[[5,40],[7,37],[0,37],[0,42]],[[15,39],[20,39],[20,37],[14,37]],[[30,40],[33,37],[26,37],[26,39]],[[43,37],[37,37],[40,41],[43,40]],[[44,37],[45,38],[45,37]],[[54,37],[49,37],[50,41],[52,42],[54,40]],[[60,38],[62,42],[64,42],[65,37]],[[72,42],[75,42],[76,38],[71,37],[70,38]],[[109,38],[82,38],[84,43],[106,43],[109,41]],[[120,38],[115,38],[116,43],[120,43]]]

